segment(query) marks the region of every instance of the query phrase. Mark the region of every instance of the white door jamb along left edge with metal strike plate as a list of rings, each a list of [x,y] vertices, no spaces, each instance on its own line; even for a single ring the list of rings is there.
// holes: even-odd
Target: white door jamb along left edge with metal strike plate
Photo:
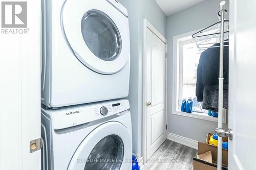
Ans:
[[[30,141],[41,136],[41,1],[4,2],[0,1],[1,9],[5,9],[5,13],[2,11],[2,14],[5,14],[2,15],[2,19],[5,18],[6,23],[12,26],[3,28],[4,21],[2,20],[2,32],[0,33],[0,169],[39,170],[41,169],[40,150],[30,153]],[[20,17],[19,13],[23,17]],[[24,26],[26,28],[13,28],[16,24],[24,25],[26,20],[27,26]]]

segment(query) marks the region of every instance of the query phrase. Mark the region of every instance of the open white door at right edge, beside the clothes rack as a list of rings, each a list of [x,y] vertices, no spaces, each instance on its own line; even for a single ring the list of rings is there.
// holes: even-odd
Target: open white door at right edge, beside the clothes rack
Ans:
[[[256,2],[230,1],[228,169],[256,169]]]

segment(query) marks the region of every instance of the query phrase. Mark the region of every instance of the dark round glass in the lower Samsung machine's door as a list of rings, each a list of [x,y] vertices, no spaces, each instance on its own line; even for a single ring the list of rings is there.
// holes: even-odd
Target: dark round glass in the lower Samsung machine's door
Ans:
[[[117,135],[101,139],[90,153],[84,170],[120,169],[124,154],[122,139]]]

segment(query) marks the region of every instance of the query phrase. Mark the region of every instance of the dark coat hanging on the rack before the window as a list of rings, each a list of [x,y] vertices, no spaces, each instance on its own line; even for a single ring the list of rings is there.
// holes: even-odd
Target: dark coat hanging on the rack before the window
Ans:
[[[220,43],[212,46],[220,46]],[[228,109],[228,46],[224,46],[223,61],[223,108]],[[218,111],[219,70],[220,47],[207,48],[201,54],[197,68],[196,96],[198,102],[203,102],[203,109]]]

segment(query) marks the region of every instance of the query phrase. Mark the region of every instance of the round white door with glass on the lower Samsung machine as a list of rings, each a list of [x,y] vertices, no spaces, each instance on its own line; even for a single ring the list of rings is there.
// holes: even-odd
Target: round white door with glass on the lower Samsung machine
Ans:
[[[130,132],[120,123],[109,122],[96,128],[81,142],[68,170],[128,169],[131,158]]]

